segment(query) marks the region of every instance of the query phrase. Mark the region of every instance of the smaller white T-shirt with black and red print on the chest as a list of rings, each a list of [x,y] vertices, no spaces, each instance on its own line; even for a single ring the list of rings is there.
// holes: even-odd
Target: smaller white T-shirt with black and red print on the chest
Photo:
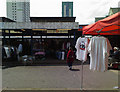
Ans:
[[[76,51],[76,59],[81,60],[81,61],[86,61],[87,60],[87,47],[88,47],[89,39],[88,38],[81,38],[79,37],[77,39],[75,48],[77,49]]]

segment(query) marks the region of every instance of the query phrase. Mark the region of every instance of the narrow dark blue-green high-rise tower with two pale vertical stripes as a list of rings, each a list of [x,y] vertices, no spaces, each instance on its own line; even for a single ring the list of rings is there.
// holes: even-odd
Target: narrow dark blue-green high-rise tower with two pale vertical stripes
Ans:
[[[62,2],[62,17],[73,17],[73,2]]]

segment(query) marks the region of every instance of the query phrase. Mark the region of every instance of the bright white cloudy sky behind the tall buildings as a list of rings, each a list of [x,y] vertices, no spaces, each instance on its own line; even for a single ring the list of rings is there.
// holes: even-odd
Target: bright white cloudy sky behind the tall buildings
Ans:
[[[80,25],[92,24],[104,17],[120,0],[30,0],[31,17],[62,17],[62,1],[73,2],[73,16]],[[6,17],[6,0],[0,0],[0,17]]]

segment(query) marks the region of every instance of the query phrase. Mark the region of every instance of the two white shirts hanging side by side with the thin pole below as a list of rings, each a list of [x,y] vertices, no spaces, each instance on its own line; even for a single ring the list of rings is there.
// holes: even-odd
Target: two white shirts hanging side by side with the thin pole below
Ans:
[[[108,56],[112,49],[110,42],[103,36],[93,36],[90,40],[87,37],[79,37],[75,48],[76,59],[81,61],[81,89],[83,89],[83,64],[90,56],[90,67],[92,71],[105,72],[108,69]]]

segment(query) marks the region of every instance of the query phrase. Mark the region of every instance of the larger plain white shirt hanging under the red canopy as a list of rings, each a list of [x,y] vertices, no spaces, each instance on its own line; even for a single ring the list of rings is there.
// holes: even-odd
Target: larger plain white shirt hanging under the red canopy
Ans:
[[[106,71],[108,68],[109,51],[112,49],[109,40],[105,37],[93,37],[88,46],[90,53],[90,70]]]

